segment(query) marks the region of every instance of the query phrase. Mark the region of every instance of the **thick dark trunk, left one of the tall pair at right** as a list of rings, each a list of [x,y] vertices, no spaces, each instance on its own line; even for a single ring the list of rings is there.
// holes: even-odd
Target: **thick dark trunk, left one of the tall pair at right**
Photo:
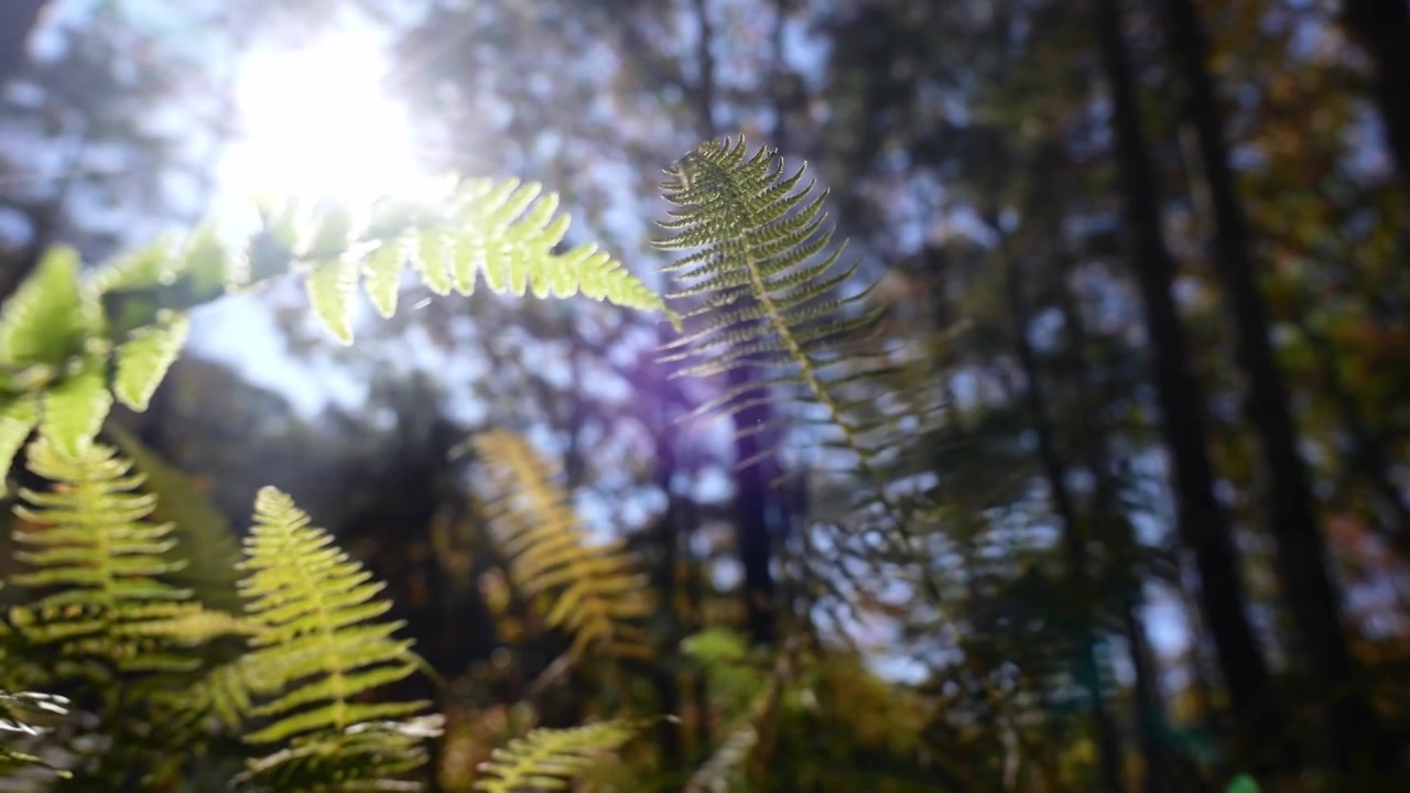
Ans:
[[[1170,292],[1175,261],[1160,231],[1159,186],[1141,128],[1118,0],[1097,0],[1096,13],[1101,68],[1111,90],[1112,135],[1129,234],[1127,253],[1153,349],[1160,429],[1175,470],[1176,521],[1182,540],[1194,553],[1200,611],[1214,638],[1231,704],[1241,715],[1238,749],[1248,753],[1266,745],[1269,727],[1277,724],[1272,718],[1268,666],[1248,622],[1230,525],[1214,498],[1204,394],[1189,370],[1189,339]]]

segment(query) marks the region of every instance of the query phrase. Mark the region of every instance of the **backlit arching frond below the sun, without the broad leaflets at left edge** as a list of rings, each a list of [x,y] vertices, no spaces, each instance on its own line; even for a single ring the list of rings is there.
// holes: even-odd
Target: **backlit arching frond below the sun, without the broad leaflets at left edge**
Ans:
[[[444,188],[426,200],[389,199],[368,212],[337,203],[269,205],[264,227],[235,244],[212,227],[185,247],[162,240],[100,270],[94,289],[109,298],[107,313],[124,336],[164,309],[185,309],[223,289],[293,271],[305,277],[313,313],[350,343],[358,286],[391,317],[406,265],[437,295],[470,295],[484,278],[499,293],[582,293],[664,310],[656,292],[596,246],[556,253],[568,230],[557,193],[517,179],[447,181]]]

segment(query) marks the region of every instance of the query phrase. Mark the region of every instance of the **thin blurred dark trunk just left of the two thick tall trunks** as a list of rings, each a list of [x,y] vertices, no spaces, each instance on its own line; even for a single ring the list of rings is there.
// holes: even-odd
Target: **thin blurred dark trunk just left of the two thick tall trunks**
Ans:
[[[1079,636],[1083,687],[1087,690],[1089,707],[1091,708],[1093,731],[1097,738],[1097,749],[1101,758],[1101,779],[1107,790],[1121,793],[1125,790],[1125,779],[1121,762],[1121,739],[1117,735],[1117,725],[1107,710],[1107,703],[1101,689],[1101,667],[1097,659],[1097,636],[1093,619],[1093,591],[1091,576],[1087,569],[1087,552],[1081,538],[1081,525],[1077,521],[1077,508],[1073,504],[1072,492],[1067,490],[1066,470],[1058,457],[1058,447],[1053,443],[1053,429],[1048,422],[1048,399],[1043,392],[1042,380],[1038,374],[1038,361],[1034,347],[1028,341],[1028,310],[1024,305],[1022,272],[1017,255],[1008,261],[1008,310],[1014,322],[1014,344],[1018,353],[1018,363],[1022,367],[1025,394],[1028,398],[1028,412],[1032,413],[1034,430],[1038,435],[1038,457],[1048,478],[1048,488],[1053,501],[1053,511],[1063,523],[1062,546],[1067,563],[1067,576],[1079,603]]]

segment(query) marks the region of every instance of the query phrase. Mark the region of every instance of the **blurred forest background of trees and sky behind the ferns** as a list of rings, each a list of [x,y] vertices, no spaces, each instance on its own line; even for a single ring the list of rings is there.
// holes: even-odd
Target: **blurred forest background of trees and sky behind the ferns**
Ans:
[[[701,658],[794,634],[828,649],[752,790],[1404,772],[1403,0],[16,0],[0,295],[48,244],[102,260],[219,206],[248,52],[348,18],[385,44],[367,90],[407,109],[429,171],[541,181],[637,274],[660,265],[660,171],[698,143],[807,159],[878,279],[883,341],[926,350],[907,387],[945,405],[887,471],[924,490],[905,564],[940,583],[939,626],[918,586],[859,588],[815,542],[859,485],[777,406],[681,423],[740,382],[670,378],[664,326],[475,295],[344,351],[281,289],[200,315],[125,420],[237,531],[278,484],[391,580],[446,679],[424,691],[451,718],[433,785],[467,789],[491,737],[625,701],[680,722],[623,789],[681,789],[742,707]],[[650,663],[611,686],[556,666],[461,453],[488,428],[558,460],[588,528],[640,555]]]

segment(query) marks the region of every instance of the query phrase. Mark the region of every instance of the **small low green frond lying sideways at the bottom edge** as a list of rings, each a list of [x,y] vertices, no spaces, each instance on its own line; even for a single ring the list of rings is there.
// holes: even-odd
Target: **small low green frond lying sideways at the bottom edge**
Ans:
[[[534,730],[495,749],[481,763],[475,790],[482,793],[525,793],[567,789],[568,782],[596,766],[608,752],[630,741],[639,725],[603,721],[570,730]],[[494,777],[488,776],[494,775]]]

